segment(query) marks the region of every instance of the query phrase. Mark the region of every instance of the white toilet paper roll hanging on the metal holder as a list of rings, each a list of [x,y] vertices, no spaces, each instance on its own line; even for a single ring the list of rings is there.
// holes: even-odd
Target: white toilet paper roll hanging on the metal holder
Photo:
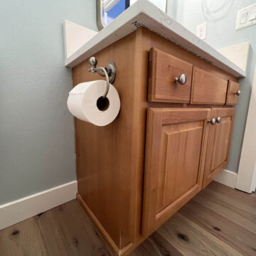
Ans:
[[[120,110],[117,90],[110,84],[107,97],[105,80],[82,82],[69,92],[68,110],[78,119],[97,126],[105,126],[114,121]]]

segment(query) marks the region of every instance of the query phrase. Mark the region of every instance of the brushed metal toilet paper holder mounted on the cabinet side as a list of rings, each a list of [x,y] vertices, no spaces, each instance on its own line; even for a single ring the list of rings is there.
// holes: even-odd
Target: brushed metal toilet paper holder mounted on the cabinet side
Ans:
[[[89,63],[90,63],[90,68],[88,69],[89,72],[97,73],[98,75],[106,77],[106,90],[104,92],[104,95],[102,95],[102,97],[105,98],[107,97],[107,93],[110,90],[110,82],[111,83],[114,82],[117,69],[113,62],[108,63],[106,68],[96,67],[97,59],[95,57],[89,58]]]

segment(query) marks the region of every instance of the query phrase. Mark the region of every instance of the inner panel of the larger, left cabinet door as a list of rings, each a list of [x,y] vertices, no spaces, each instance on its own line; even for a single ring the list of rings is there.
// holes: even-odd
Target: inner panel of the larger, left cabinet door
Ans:
[[[159,179],[161,191],[158,193],[158,212],[195,186],[198,181],[202,122],[163,127],[161,169],[164,173],[161,175],[163,181]],[[195,150],[191,150],[191,145]]]

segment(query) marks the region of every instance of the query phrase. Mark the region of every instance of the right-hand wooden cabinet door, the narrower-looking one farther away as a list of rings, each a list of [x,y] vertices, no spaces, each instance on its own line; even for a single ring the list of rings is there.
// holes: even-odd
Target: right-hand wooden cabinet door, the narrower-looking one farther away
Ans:
[[[206,169],[203,188],[210,183],[228,164],[230,140],[233,130],[234,107],[213,108],[211,118],[221,118],[220,123],[209,125]]]

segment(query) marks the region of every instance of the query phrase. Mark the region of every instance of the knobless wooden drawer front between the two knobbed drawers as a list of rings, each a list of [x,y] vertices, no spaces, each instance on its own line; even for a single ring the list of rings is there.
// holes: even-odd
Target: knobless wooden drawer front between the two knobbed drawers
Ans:
[[[224,105],[227,87],[228,80],[194,67],[191,104]]]

